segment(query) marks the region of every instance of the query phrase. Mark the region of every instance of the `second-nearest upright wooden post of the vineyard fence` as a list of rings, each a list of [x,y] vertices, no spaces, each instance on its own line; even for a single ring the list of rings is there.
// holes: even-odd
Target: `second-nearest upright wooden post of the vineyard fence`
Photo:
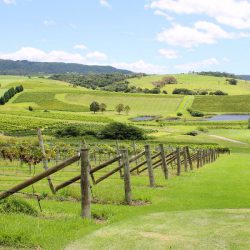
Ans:
[[[122,163],[123,163],[123,167],[124,167],[125,201],[128,205],[131,205],[132,198],[131,198],[131,182],[130,182],[128,150],[123,149],[121,152],[122,152]]]

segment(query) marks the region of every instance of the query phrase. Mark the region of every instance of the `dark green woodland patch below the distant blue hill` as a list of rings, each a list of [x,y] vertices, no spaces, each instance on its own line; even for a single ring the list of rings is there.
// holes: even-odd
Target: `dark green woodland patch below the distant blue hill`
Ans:
[[[68,82],[74,86],[82,86],[89,89],[113,91],[113,89],[123,89],[124,86],[128,85],[129,82],[127,79],[141,76],[143,74],[56,74],[50,76],[50,79]]]

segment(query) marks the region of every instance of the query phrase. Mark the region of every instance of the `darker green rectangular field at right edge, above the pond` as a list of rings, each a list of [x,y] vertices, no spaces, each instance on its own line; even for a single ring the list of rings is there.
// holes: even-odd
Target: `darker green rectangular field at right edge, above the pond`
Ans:
[[[250,112],[250,95],[196,96],[192,109],[214,113]]]

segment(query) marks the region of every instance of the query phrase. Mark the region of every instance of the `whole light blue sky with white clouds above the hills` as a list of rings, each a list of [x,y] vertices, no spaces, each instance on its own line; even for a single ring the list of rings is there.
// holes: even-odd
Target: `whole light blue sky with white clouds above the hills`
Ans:
[[[250,74],[247,0],[0,0],[0,58]]]

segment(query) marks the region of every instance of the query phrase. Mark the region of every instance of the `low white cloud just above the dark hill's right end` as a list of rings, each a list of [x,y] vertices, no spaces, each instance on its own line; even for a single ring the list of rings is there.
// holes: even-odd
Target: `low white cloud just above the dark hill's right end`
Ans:
[[[127,69],[138,73],[148,73],[148,74],[164,74],[167,70],[164,66],[154,65],[146,63],[143,60],[139,60],[132,63],[117,62],[112,64],[113,67],[119,69]]]

